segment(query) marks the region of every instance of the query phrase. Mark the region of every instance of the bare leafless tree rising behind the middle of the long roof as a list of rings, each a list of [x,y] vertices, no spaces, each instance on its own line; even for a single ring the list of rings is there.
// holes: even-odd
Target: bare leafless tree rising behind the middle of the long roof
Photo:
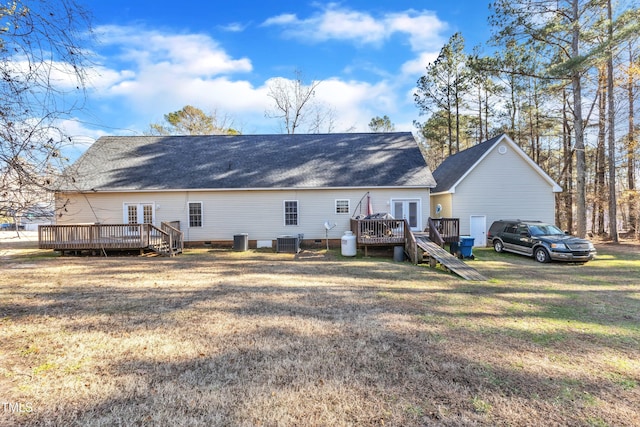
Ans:
[[[288,134],[296,133],[296,130],[307,120],[312,120],[312,127],[318,128],[317,119],[321,117],[313,106],[315,90],[321,81],[312,81],[305,84],[302,72],[296,70],[293,80],[276,78],[269,85],[268,96],[273,99],[274,106],[265,112],[265,116],[279,119]],[[315,112],[315,113],[314,113]],[[312,115],[311,119],[308,115]]]

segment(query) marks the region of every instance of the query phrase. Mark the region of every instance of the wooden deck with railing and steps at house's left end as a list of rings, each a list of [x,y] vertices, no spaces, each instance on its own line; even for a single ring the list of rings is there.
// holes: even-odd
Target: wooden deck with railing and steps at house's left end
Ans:
[[[173,225],[172,225],[173,224]],[[173,256],[182,253],[184,237],[176,223],[73,224],[38,227],[40,249],[61,252],[151,250]]]

